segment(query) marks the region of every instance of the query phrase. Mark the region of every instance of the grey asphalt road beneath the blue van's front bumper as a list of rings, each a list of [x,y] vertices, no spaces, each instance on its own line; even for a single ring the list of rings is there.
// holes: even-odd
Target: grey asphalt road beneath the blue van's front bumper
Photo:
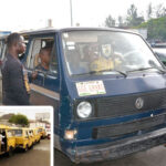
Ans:
[[[55,151],[54,166],[75,166],[75,164],[71,163],[66,156]],[[146,152],[141,152],[116,160],[79,164],[76,166],[166,166],[166,147],[154,147]]]

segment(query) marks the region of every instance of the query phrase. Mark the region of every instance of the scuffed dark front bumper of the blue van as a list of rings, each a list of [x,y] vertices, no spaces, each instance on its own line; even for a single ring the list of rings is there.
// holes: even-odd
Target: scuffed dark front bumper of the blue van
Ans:
[[[74,163],[93,163],[116,159],[136,152],[145,151],[166,143],[166,128],[113,143],[81,146],[68,149]]]

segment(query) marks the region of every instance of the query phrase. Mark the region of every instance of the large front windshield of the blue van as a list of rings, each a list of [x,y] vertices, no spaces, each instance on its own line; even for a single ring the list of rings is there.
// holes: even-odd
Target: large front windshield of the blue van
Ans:
[[[158,60],[137,34],[113,31],[71,31],[62,33],[62,43],[70,75],[114,74],[139,69],[162,69]]]

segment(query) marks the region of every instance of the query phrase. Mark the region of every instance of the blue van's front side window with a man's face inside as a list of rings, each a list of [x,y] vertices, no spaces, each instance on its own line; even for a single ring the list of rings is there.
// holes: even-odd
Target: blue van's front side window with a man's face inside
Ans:
[[[55,58],[53,58],[53,45],[54,39],[52,37],[33,39],[30,45],[27,68],[43,73],[54,73]]]

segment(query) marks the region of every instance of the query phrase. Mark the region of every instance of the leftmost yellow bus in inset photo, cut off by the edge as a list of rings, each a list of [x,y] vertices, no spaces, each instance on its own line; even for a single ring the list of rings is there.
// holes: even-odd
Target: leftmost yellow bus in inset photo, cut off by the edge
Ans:
[[[0,125],[0,155],[8,153],[12,155],[15,148],[15,137],[13,131],[7,125]]]

